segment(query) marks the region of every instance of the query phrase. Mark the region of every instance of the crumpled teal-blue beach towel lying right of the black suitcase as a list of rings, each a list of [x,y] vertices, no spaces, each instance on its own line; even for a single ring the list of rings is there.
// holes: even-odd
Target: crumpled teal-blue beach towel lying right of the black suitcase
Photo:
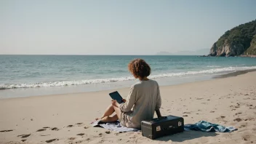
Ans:
[[[208,121],[199,121],[196,124],[185,124],[185,130],[196,130],[201,132],[233,132],[235,127],[224,127],[219,124],[212,124]]]

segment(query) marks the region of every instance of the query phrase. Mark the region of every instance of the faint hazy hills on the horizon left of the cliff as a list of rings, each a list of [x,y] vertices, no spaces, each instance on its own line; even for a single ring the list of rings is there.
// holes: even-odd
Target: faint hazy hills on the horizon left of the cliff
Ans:
[[[156,55],[206,55],[209,54],[209,49],[198,49],[196,51],[180,51],[180,52],[158,52]]]

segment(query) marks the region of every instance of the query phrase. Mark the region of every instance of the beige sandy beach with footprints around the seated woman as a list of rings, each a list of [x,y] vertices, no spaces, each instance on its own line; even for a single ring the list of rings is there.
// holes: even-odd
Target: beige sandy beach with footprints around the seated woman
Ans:
[[[256,143],[256,72],[161,87],[164,116],[185,124],[206,120],[231,133],[183,132],[150,140],[141,132],[112,132],[90,123],[111,103],[108,91],[0,100],[0,143]],[[129,88],[118,89],[126,97]]]

